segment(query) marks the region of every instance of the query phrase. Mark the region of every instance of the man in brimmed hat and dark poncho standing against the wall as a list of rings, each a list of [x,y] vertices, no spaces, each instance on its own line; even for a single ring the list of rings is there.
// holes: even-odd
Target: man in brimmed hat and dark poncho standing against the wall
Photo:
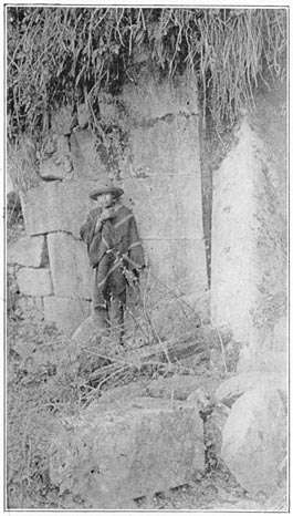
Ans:
[[[92,312],[101,329],[113,329],[123,344],[126,286],[138,281],[144,252],[130,209],[121,204],[123,189],[101,182],[90,194],[98,205],[81,227],[93,269]]]

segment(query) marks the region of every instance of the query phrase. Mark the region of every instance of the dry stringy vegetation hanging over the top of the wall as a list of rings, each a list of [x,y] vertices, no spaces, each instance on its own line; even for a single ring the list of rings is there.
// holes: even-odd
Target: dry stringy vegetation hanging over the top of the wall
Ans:
[[[56,107],[84,101],[98,126],[100,92],[118,93],[139,53],[166,76],[195,72],[219,127],[284,73],[285,9],[10,7],[7,18],[10,138],[45,133]]]

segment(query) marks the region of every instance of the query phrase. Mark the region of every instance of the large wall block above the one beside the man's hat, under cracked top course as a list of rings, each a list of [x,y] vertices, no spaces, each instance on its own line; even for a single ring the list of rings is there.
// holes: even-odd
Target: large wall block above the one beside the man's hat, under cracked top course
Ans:
[[[200,174],[199,118],[177,115],[129,132],[129,175]]]

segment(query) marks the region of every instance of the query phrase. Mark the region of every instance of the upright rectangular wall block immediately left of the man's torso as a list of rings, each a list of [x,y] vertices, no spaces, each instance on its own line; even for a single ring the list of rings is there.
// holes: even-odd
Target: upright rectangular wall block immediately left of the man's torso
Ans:
[[[86,246],[65,233],[48,235],[55,296],[91,299],[91,270]]]

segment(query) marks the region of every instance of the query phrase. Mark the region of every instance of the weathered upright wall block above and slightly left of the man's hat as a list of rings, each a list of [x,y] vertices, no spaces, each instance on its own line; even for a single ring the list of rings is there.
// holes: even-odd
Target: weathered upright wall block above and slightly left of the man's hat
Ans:
[[[106,174],[96,151],[96,142],[90,130],[77,130],[71,136],[71,153],[74,176],[83,179],[98,179]]]

